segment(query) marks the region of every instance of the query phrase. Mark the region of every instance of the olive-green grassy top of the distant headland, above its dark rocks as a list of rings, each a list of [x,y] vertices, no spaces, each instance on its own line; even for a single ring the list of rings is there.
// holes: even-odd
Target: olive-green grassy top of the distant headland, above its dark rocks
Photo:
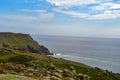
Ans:
[[[15,33],[0,33],[0,43],[4,43],[9,47],[19,46],[26,47],[27,45],[38,48],[39,45],[27,34]]]

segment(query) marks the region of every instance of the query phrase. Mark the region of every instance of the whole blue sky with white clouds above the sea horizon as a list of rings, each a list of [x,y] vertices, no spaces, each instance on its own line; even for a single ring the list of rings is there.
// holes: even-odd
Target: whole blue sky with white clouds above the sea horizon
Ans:
[[[0,32],[120,38],[120,0],[0,0]]]

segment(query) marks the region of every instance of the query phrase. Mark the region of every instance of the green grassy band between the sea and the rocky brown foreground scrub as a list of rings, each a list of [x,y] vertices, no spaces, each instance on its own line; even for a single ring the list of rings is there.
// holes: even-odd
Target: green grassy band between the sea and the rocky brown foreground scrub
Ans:
[[[10,51],[10,53],[11,52],[12,51]],[[14,51],[14,53],[11,53],[11,55],[8,53],[6,54],[6,56],[7,56],[6,62],[25,64],[27,66],[28,65],[30,66],[30,64],[34,64],[34,65],[40,66],[41,68],[48,68],[50,63],[53,63],[59,68],[69,69],[70,66],[74,66],[77,72],[89,75],[91,77],[91,80],[97,80],[98,78],[100,78],[101,80],[118,80],[118,79],[115,79],[114,77],[115,75],[113,75],[113,73],[105,72],[104,70],[101,70],[98,68],[92,68],[90,66],[87,66],[81,63],[72,62],[72,61],[61,59],[61,58],[53,58],[50,56],[34,54],[29,52],[24,53],[21,51]],[[0,60],[1,61],[4,60],[6,56],[1,55]],[[34,66],[31,66],[31,67],[34,67]]]

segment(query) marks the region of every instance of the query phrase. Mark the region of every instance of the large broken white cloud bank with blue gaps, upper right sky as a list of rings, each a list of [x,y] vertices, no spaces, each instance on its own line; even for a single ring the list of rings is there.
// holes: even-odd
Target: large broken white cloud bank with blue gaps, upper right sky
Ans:
[[[113,19],[120,17],[120,4],[113,0],[47,0],[56,12],[85,19]],[[89,7],[89,5],[91,5]],[[72,9],[72,7],[74,7]],[[85,11],[88,10],[88,11]]]

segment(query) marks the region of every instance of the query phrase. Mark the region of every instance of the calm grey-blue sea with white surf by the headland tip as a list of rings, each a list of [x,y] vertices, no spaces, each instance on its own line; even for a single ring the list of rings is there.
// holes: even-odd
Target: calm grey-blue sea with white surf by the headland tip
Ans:
[[[60,36],[33,36],[55,57],[65,58],[120,72],[120,39]]]

